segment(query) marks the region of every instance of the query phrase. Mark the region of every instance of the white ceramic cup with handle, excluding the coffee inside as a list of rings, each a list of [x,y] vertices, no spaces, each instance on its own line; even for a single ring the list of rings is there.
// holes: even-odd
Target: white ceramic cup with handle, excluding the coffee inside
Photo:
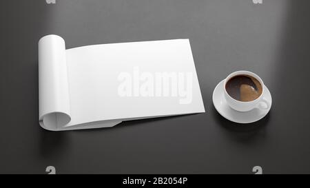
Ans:
[[[260,96],[258,98],[256,98],[254,101],[247,101],[247,102],[238,101],[238,100],[232,98],[227,93],[225,86],[226,86],[227,81],[229,81],[229,79],[231,79],[232,77],[237,76],[237,75],[249,75],[249,76],[252,76],[255,79],[257,79],[260,82],[260,84],[262,85],[262,94],[260,94]],[[239,112],[247,112],[247,111],[250,111],[251,109],[254,109],[254,108],[269,109],[269,107],[270,107],[270,103],[264,97],[265,85],[262,82],[262,79],[260,79],[260,77],[257,76],[256,74],[254,74],[253,72],[240,70],[240,71],[236,71],[236,72],[229,74],[224,81],[224,91],[225,91],[224,96],[225,96],[225,99],[227,101],[227,104],[231,108],[233,108]]]

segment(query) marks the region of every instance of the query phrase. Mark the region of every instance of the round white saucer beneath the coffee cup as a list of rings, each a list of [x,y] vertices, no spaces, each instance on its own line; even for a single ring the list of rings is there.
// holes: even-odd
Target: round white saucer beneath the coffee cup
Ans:
[[[216,110],[220,115],[222,115],[224,118],[227,118],[229,121],[233,121],[236,123],[254,123],[256,121],[259,121],[261,118],[265,117],[270,108],[272,103],[271,94],[268,90],[268,88],[265,86],[264,95],[267,101],[270,103],[269,109],[258,109],[254,108],[249,112],[238,112],[226,103],[226,99],[224,96],[224,81],[221,81],[216,85],[216,88],[213,92],[213,104]]]

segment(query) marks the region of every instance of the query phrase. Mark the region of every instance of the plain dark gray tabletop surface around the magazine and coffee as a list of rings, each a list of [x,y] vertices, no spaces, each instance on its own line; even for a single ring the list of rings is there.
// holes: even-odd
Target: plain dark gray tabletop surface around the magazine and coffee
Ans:
[[[309,0],[1,1],[0,173],[310,173]],[[67,48],[189,38],[205,114],[49,132],[39,126],[37,42]],[[271,91],[271,112],[238,125],[211,94],[230,72],[250,70]]]

